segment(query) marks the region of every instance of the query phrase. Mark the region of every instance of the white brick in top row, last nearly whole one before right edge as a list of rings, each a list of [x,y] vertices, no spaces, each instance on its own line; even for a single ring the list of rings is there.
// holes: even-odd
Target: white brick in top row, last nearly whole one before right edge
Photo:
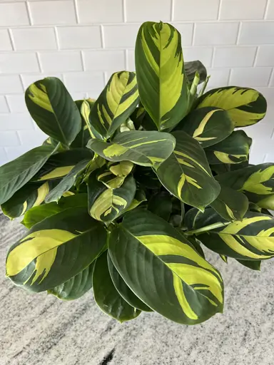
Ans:
[[[223,0],[220,19],[263,19],[267,0]]]

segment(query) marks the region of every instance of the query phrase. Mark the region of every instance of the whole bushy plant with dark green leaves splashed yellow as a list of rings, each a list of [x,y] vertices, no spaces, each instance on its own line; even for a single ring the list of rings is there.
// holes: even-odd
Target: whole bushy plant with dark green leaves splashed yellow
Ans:
[[[264,118],[265,98],[207,83],[178,31],[146,22],[136,72],[113,73],[96,101],[73,101],[58,78],[27,88],[49,138],[0,168],[1,208],[29,229],[6,257],[14,284],[66,300],[92,288],[120,322],[223,312],[202,246],[255,270],[274,256],[274,164],[250,165],[239,129]]]

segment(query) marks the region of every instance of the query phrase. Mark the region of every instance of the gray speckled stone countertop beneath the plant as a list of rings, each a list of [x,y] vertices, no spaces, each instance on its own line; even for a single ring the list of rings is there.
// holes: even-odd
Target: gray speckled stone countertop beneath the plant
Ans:
[[[6,251],[24,232],[0,215],[1,365],[273,365],[274,260],[253,272],[208,255],[223,274],[225,312],[186,327],[158,314],[119,324],[91,292],[74,302],[31,294],[4,274]]]

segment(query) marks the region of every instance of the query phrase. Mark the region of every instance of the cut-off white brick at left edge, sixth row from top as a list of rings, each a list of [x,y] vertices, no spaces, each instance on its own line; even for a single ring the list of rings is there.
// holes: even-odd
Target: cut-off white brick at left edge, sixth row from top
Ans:
[[[9,113],[0,115],[0,130],[33,129],[34,123],[28,113]]]

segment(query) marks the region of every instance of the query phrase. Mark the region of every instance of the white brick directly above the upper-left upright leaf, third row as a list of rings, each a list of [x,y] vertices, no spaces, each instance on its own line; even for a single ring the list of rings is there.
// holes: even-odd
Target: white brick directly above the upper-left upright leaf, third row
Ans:
[[[43,72],[82,71],[80,51],[59,51],[39,53]]]

